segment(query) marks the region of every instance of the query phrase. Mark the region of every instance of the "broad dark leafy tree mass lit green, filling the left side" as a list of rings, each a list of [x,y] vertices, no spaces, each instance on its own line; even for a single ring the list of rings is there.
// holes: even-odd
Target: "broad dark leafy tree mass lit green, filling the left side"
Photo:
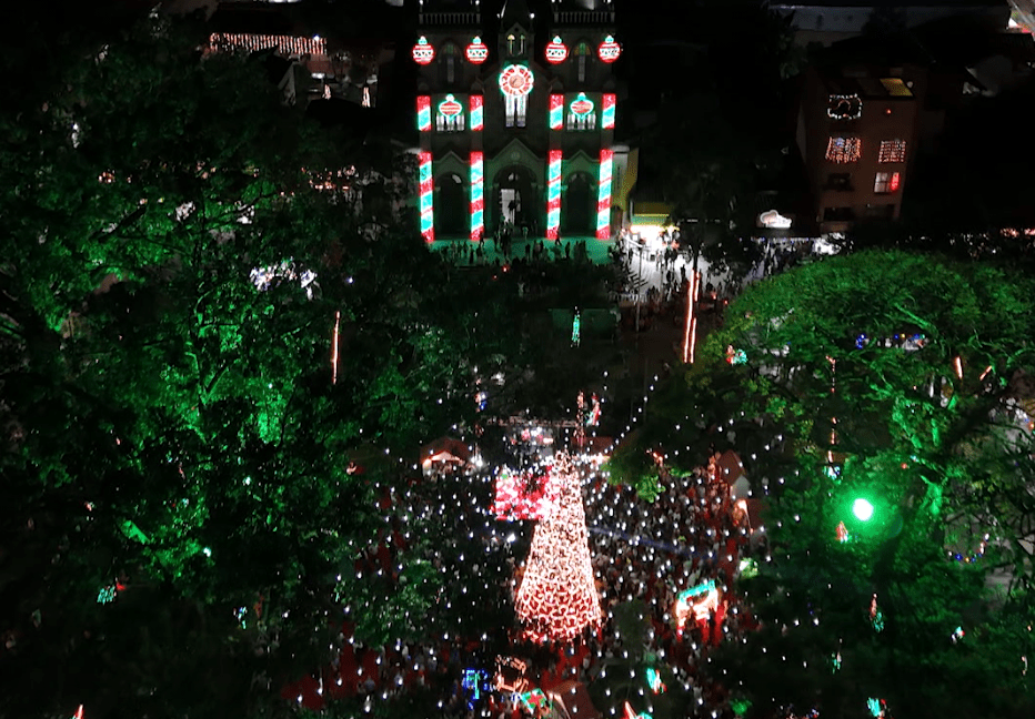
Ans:
[[[422,636],[445,580],[418,541],[391,578],[355,561],[511,335],[392,214],[404,159],[195,30],[77,44],[0,113],[2,717],[289,711],[343,605]]]

